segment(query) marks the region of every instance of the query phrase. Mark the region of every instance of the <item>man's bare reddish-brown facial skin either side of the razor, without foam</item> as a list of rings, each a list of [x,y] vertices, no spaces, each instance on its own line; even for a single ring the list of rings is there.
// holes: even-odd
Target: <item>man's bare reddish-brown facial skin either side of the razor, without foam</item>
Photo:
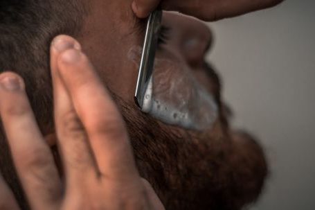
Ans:
[[[122,4],[118,1],[111,3],[114,7],[111,10],[125,11],[121,12],[126,15],[125,17],[118,15],[118,12],[114,12],[115,14],[104,12],[104,7],[109,8],[109,5],[102,1],[99,3],[100,5],[95,4],[97,5],[95,8],[91,6],[93,12],[90,12],[91,15],[82,28],[82,36],[78,37],[78,40],[82,43],[84,52],[90,56],[94,66],[100,72],[100,77],[107,87],[123,100],[134,104],[134,89],[141,52],[138,51],[138,55],[134,55],[134,58],[128,58],[128,53],[133,49],[142,48],[145,21],[136,19],[125,21],[125,19],[134,18],[130,14],[127,3]],[[110,21],[107,22],[109,17]],[[95,21],[96,19],[102,19],[102,21]],[[168,33],[171,36],[170,42],[161,46],[156,60],[177,62],[179,63],[177,69],[185,65],[198,77],[204,87],[209,89],[213,86],[212,82],[208,82],[208,76],[204,70],[204,55],[212,39],[206,25],[197,19],[165,13],[163,26],[170,28]],[[197,44],[188,46],[189,42],[197,42]],[[159,68],[168,68],[164,65],[159,64]],[[215,94],[214,91],[212,93]]]

